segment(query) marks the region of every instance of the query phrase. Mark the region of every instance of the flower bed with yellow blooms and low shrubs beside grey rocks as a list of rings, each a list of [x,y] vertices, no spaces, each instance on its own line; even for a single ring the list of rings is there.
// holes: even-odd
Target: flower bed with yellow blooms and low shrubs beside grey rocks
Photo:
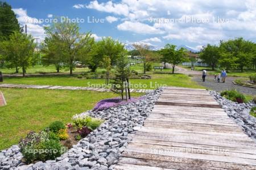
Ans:
[[[26,164],[37,161],[53,160],[98,128],[103,121],[84,116],[72,118],[66,126],[61,121],[52,122],[48,128],[36,133],[31,131],[26,138],[20,139],[19,148]]]

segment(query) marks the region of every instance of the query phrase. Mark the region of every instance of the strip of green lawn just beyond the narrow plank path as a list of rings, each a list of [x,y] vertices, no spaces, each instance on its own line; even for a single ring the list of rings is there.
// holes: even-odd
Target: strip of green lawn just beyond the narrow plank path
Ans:
[[[192,82],[191,78],[183,74],[154,74],[148,72],[151,79],[130,79],[131,88],[144,88],[155,89],[159,86],[177,86],[177,87],[190,87],[190,88],[203,88],[196,82]],[[14,84],[39,84],[39,85],[55,85],[55,86],[82,86],[88,87],[91,84],[102,84],[104,86],[104,79],[86,79],[76,78],[75,76],[58,75],[58,76],[33,76],[25,78],[4,78],[3,83]]]

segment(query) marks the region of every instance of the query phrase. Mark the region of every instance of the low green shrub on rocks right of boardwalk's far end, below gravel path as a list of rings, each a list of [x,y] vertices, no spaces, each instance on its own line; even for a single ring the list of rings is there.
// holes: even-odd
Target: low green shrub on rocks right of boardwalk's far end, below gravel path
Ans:
[[[226,97],[226,99],[237,102],[237,103],[243,103],[246,100],[245,95],[241,94],[236,90],[222,91],[221,96]]]

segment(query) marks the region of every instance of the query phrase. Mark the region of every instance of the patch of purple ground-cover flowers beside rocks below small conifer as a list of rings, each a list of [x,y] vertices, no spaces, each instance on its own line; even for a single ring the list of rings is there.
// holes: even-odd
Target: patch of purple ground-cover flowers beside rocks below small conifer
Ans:
[[[104,99],[99,101],[95,107],[93,108],[93,111],[102,111],[104,109],[108,109],[110,107],[116,107],[121,104],[126,104],[126,103],[131,103],[137,100],[142,99],[142,97],[137,97],[137,98],[131,98],[130,100],[122,100],[119,97],[111,98],[111,99]]]

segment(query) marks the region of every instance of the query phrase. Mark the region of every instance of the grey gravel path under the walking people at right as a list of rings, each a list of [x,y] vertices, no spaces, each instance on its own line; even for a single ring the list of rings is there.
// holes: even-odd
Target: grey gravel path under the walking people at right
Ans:
[[[195,75],[192,78],[193,81],[199,83],[201,86],[210,88],[211,90],[214,90],[214,91],[220,92],[220,91],[224,91],[227,89],[228,90],[236,89],[237,91],[240,91],[243,94],[256,95],[256,88],[235,85],[232,83],[232,81],[235,79],[237,79],[237,78],[228,77],[228,78],[226,78],[225,83],[217,83],[217,82],[214,82],[213,76],[207,76],[205,82],[202,82],[202,78],[200,75]]]

